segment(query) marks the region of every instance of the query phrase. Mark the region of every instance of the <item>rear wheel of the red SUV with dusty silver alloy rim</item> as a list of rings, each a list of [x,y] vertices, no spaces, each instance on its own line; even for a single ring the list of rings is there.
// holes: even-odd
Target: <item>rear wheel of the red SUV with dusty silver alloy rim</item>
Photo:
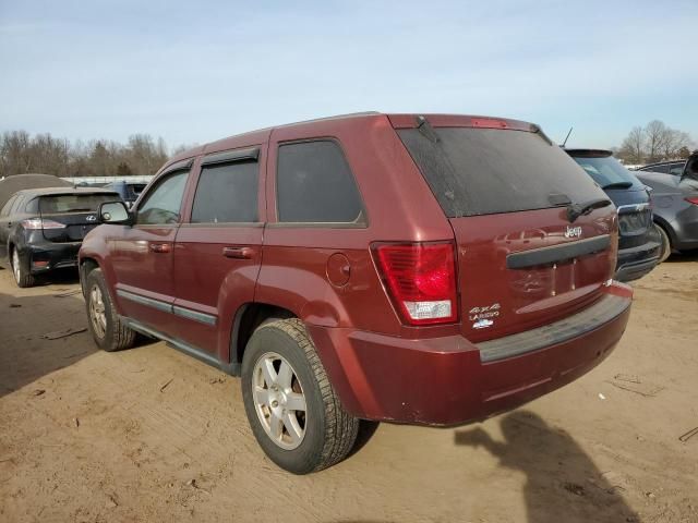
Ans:
[[[357,439],[359,419],[342,409],[297,318],[252,335],[242,358],[242,398],[264,452],[293,474],[340,462]]]

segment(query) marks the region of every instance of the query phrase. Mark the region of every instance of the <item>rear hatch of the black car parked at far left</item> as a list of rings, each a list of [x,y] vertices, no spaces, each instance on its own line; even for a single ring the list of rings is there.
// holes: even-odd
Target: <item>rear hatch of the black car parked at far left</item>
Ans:
[[[50,242],[81,242],[97,227],[97,210],[105,202],[120,200],[117,193],[83,192],[40,196],[44,238]]]

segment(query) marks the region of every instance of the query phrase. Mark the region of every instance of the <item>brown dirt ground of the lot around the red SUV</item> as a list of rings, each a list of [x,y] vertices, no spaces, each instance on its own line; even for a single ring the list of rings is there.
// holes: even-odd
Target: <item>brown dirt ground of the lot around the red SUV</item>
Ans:
[[[616,351],[479,425],[380,425],[351,458],[277,469],[240,382],[164,343],[98,352],[74,278],[0,270],[0,521],[698,522],[698,256],[637,282]],[[70,291],[76,291],[71,294]]]

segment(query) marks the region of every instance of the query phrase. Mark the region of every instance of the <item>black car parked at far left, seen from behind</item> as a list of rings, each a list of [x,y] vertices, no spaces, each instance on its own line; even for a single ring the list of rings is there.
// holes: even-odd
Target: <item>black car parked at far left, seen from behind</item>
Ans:
[[[12,269],[19,287],[34,285],[38,275],[77,267],[77,251],[97,226],[99,204],[119,199],[103,190],[19,191],[0,210],[0,260]]]

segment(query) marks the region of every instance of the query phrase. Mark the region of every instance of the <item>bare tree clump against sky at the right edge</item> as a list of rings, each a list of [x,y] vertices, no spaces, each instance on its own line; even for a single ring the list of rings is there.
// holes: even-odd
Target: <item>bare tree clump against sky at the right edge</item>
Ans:
[[[688,158],[694,146],[688,133],[672,129],[660,120],[633,127],[615,156],[625,163],[651,163],[661,160]]]

